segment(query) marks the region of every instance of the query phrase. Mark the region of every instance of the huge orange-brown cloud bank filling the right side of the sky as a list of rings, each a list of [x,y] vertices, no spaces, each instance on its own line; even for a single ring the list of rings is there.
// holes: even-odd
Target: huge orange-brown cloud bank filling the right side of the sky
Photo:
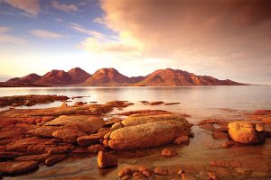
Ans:
[[[136,44],[146,58],[173,59],[178,63],[169,67],[197,74],[271,83],[268,0],[104,0],[101,8],[104,16],[95,22],[116,31],[120,43]]]

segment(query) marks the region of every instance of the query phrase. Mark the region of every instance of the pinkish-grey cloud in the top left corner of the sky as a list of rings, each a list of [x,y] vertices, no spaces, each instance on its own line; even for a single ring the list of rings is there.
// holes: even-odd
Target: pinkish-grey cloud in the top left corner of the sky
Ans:
[[[12,5],[14,8],[23,10],[30,16],[36,16],[39,14],[40,2],[39,0],[3,0],[5,3]]]

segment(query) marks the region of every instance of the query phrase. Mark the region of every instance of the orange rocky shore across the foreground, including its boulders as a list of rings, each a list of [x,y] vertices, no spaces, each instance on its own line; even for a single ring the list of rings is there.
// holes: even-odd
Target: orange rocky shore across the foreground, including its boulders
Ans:
[[[109,114],[114,109],[133,104],[126,101],[70,106],[62,103],[54,108],[0,112],[0,175],[21,175],[41,166],[54,166],[64,159],[97,156],[96,164],[101,169],[118,166],[115,179],[271,178],[270,148],[259,154],[258,160],[216,159],[214,155],[208,165],[178,161],[174,165],[164,163],[164,166],[151,161],[142,165],[123,165],[126,158],[152,159],[154,155],[154,161],[161,158],[164,162],[175,161],[182,156],[182,148],[189,147],[192,138],[197,136],[194,130],[210,133],[220,144],[220,150],[263,146],[270,143],[270,110],[246,114],[248,118],[243,121],[211,119],[198,124],[190,123],[188,114],[163,110]],[[78,168],[73,167],[70,171],[77,172]],[[65,173],[69,175],[69,168],[66,172],[63,170]],[[77,179],[92,178],[83,175]]]

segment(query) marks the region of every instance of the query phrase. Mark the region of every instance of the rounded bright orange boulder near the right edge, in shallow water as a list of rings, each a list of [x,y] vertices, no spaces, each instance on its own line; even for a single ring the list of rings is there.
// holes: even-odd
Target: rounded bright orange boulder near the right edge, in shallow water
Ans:
[[[264,127],[260,123],[233,121],[229,123],[229,137],[243,144],[253,144],[265,140]]]

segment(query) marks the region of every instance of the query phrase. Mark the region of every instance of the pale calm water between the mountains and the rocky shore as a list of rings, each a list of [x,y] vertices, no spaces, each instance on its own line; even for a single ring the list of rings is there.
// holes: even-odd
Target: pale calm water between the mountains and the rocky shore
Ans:
[[[252,111],[271,109],[271,86],[188,86],[188,87],[27,87],[0,88],[0,96],[21,94],[60,94],[88,96],[75,101],[105,103],[111,100],[126,100],[135,105],[126,108],[163,109],[186,112],[193,117],[215,116],[225,110]],[[180,102],[178,105],[145,106],[139,101]],[[38,104],[30,108],[59,106],[61,103]],[[29,108],[29,107],[22,107]]]

